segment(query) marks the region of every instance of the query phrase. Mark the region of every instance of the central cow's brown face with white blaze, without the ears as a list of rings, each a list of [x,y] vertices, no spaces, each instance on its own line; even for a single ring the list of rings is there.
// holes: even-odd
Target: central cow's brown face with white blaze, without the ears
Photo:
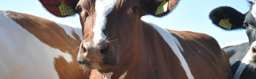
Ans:
[[[138,45],[130,43],[140,39],[136,37],[140,35],[138,25],[145,13],[139,4],[138,0],[80,0],[76,9],[80,11],[85,40],[80,46],[78,62],[89,69],[110,70],[123,53],[139,50]]]

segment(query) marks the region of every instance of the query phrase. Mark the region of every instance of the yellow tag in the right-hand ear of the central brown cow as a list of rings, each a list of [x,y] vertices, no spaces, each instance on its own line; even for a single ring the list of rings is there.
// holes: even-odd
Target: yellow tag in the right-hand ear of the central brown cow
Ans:
[[[162,13],[166,12],[167,11],[167,7],[168,7],[168,2],[166,2],[166,0],[163,0],[161,5],[157,7],[156,15],[162,14]]]

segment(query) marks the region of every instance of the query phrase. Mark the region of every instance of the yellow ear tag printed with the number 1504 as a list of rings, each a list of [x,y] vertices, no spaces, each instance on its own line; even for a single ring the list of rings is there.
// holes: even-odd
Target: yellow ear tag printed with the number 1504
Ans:
[[[66,5],[64,0],[61,0],[61,6],[59,6],[59,9],[61,11],[61,15],[74,15],[75,14],[74,10],[70,6]]]

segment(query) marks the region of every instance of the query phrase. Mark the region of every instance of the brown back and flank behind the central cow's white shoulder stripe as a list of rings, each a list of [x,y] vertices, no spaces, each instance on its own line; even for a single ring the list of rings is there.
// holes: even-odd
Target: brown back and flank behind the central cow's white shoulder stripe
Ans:
[[[213,37],[191,31],[168,31],[180,40],[184,49],[181,53],[195,78],[232,79],[228,57]],[[207,72],[207,74],[198,73],[198,71]]]

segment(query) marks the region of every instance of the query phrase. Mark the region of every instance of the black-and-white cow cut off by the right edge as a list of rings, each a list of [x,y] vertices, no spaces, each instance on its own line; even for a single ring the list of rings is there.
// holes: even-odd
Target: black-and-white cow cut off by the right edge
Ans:
[[[256,79],[256,43],[253,43],[256,41],[256,1],[248,2],[251,4],[251,7],[245,14],[240,13],[234,8],[224,6],[213,9],[209,15],[212,23],[221,29],[246,30],[249,42],[223,48],[229,56],[234,79]]]

